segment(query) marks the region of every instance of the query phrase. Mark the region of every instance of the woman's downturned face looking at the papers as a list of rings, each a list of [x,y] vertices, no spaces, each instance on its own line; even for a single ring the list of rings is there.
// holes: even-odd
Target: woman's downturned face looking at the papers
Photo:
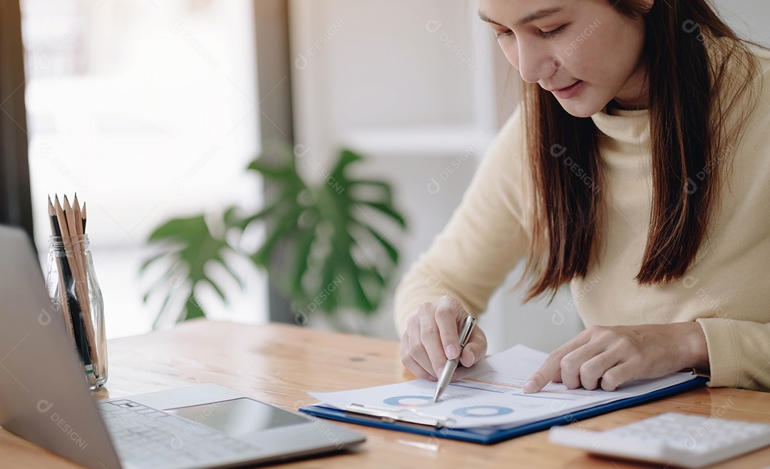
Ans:
[[[654,0],[647,0],[651,8]],[[497,34],[508,62],[526,82],[549,92],[575,117],[612,99],[646,108],[644,20],[611,0],[478,0],[480,17]]]

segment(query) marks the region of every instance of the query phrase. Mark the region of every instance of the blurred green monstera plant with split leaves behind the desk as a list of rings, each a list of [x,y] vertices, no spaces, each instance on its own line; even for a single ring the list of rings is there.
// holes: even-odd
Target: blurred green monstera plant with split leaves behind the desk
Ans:
[[[307,157],[273,145],[249,164],[268,188],[266,203],[256,213],[231,206],[219,215],[171,219],[152,232],[149,243],[162,253],[141,270],[145,275],[162,272],[144,296],[146,303],[156,295],[163,298],[156,326],[205,316],[196,297],[204,284],[228,303],[220,282],[229,280],[222,275],[243,289],[233,253],[268,271],[298,322],[310,313],[333,318],[340,310],[364,315],[377,310],[399,256],[387,230],[383,233],[372,220],[385,221],[388,229],[406,227],[393,206],[390,184],[353,178],[350,168],[363,158],[346,149],[330,171],[315,163],[313,169],[323,178],[306,183],[297,168],[302,158]],[[251,236],[255,230],[249,228],[258,223],[265,229],[263,243],[256,250],[244,250],[248,243],[243,238]],[[210,269],[213,263],[223,269]]]

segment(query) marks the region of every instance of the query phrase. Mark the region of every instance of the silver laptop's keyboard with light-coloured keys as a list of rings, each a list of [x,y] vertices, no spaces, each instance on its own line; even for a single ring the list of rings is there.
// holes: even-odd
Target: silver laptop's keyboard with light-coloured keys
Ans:
[[[246,459],[259,448],[131,400],[98,404],[121,461],[132,467],[193,467]]]

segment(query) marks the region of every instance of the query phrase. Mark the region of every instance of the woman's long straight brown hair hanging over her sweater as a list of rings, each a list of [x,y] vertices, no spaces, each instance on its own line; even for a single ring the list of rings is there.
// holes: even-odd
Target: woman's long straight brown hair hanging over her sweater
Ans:
[[[759,65],[706,0],[658,0],[648,12],[638,0],[612,2],[645,24],[652,209],[636,280],[651,285],[684,276],[707,236],[721,163],[750,115],[741,98]],[[531,300],[584,277],[598,256],[603,169],[591,118],[571,116],[536,83],[525,84],[523,106],[534,219],[522,280],[533,279]],[[558,158],[564,153],[580,171]]]

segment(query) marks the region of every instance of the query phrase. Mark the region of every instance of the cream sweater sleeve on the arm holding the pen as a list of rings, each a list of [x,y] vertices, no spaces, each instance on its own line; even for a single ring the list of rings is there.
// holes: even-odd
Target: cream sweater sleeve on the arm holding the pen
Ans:
[[[425,302],[444,295],[477,316],[528,246],[524,219],[530,197],[521,109],[494,139],[449,223],[397,287],[399,335]]]

